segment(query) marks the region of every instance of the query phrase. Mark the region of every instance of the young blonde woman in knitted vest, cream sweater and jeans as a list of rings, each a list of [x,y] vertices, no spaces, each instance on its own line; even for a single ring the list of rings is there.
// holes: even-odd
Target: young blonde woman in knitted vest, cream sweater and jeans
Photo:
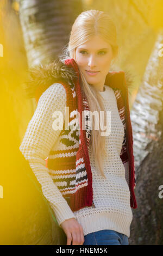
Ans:
[[[131,207],[137,207],[127,80],[123,71],[109,71],[118,54],[116,37],[108,14],[84,11],[72,26],[66,54],[31,70],[28,90],[38,104],[20,150],[67,245],[128,245]],[[80,129],[63,129],[67,106],[68,124],[79,120]],[[99,117],[104,111],[104,124],[110,113],[109,136],[102,136],[101,126],[95,129],[97,119],[89,114],[78,119],[84,110]],[[60,130],[54,129],[58,113]]]

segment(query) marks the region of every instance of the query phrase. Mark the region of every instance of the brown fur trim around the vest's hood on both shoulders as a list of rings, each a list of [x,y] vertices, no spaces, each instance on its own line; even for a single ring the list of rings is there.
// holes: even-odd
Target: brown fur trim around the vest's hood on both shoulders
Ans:
[[[76,63],[75,60],[74,63]],[[125,84],[127,88],[130,89],[133,87],[133,75],[131,75],[129,71],[109,71],[106,76],[105,84],[122,89],[122,86],[124,86],[124,77],[126,78]],[[62,81],[72,84],[77,79],[78,74],[73,66],[67,65],[57,58],[54,62],[49,64],[40,64],[36,67],[29,68],[28,79],[23,84],[23,94],[26,98],[30,99],[35,97],[37,92],[38,100],[38,97],[53,83]]]

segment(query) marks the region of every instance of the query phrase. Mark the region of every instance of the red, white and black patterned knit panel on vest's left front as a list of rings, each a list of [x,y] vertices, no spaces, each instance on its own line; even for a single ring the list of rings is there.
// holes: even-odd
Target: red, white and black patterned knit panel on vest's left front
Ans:
[[[73,91],[74,98],[76,98],[76,92],[74,88]],[[83,106],[84,106],[84,121],[86,127],[86,141],[87,147],[89,149],[89,143],[91,139],[90,130],[90,118],[89,118],[89,105],[86,98],[83,96]],[[72,110],[72,109],[71,109]],[[72,113],[77,114],[77,109]],[[77,124],[77,115],[75,118],[68,123]],[[76,126],[78,127],[78,126]],[[49,156],[46,159],[46,167],[49,170],[49,174],[55,182],[55,185],[59,188],[62,195],[66,198],[71,194],[76,193],[80,188],[87,186],[87,174],[85,169],[85,163],[83,157],[76,161],[77,152],[79,148],[79,134],[80,130],[62,130],[60,133],[59,141],[55,143],[55,148],[58,150],[51,150]],[[65,169],[65,162],[68,169]]]

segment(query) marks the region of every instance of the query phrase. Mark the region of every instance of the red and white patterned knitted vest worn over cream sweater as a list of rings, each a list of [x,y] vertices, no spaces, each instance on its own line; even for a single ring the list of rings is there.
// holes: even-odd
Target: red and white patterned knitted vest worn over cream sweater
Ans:
[[[66,59],[65,65],[77,74],[77,79],[72,82],[60,78],[55,80],[64,86],[67,95],[66,106],[69,107],[69,124],[74,124],[74,129],[61,131],[57,143],[47,156],[46,167],[49,174],[53,172],[53,182],[58,187],[62,196],[67,200],[72,211],[77,211],[85,206],[93,205],[92,194],[92,173],[89,159],[89,143],[91,139],[89,104],[82,92],[82,80],[76,61]],[[133,133],[130,121],[128,88],[124,71],[109,72],[105,79],[105,85],[110,86],[115,93],[118,113],[124,127],[124,139],[121,149],[121,160],[129,166],[129,190],[130,206],[137,208],[134,188],[136,186],[134,155],[133,155]],[[35,99],[39,100],[40,95],[47,86],[37,87]],[[77,111],[82,117],[85,111],[84,120],[80,118],[80,129],[77,125]],[[72,117],[71,117],[72,113]],[[86,129],[81,129],[85,123]]]

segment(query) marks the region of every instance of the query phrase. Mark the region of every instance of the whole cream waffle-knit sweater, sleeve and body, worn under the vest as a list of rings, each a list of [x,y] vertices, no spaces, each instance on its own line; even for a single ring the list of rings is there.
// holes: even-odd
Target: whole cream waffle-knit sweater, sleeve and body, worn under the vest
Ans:
[[[59,225],[69,218],[76,218],[83,227],[84,235],[111,229],[129,237],[133,214],[130,208],[128,171],[125,171],[120,158],[124,135],[123,124],[118,114],[114,91],[105,86],[105,92],[100,94],[104,98],[105,110],[111,111],[111,134],[106,138],[106,159],[104,160],[106,179],[95,169],[95,159],[91,157],[91,147],[89,149],[95,208],[90,206],[72,212],[45,166],[45,159],[49,151],[55,148],[61,132],[53,129],[52,114],[54,111],[61,111],[64,116],[66,90],[62,84],[52,84],[41,95],[23,137],[20,151],[29,161]]]

